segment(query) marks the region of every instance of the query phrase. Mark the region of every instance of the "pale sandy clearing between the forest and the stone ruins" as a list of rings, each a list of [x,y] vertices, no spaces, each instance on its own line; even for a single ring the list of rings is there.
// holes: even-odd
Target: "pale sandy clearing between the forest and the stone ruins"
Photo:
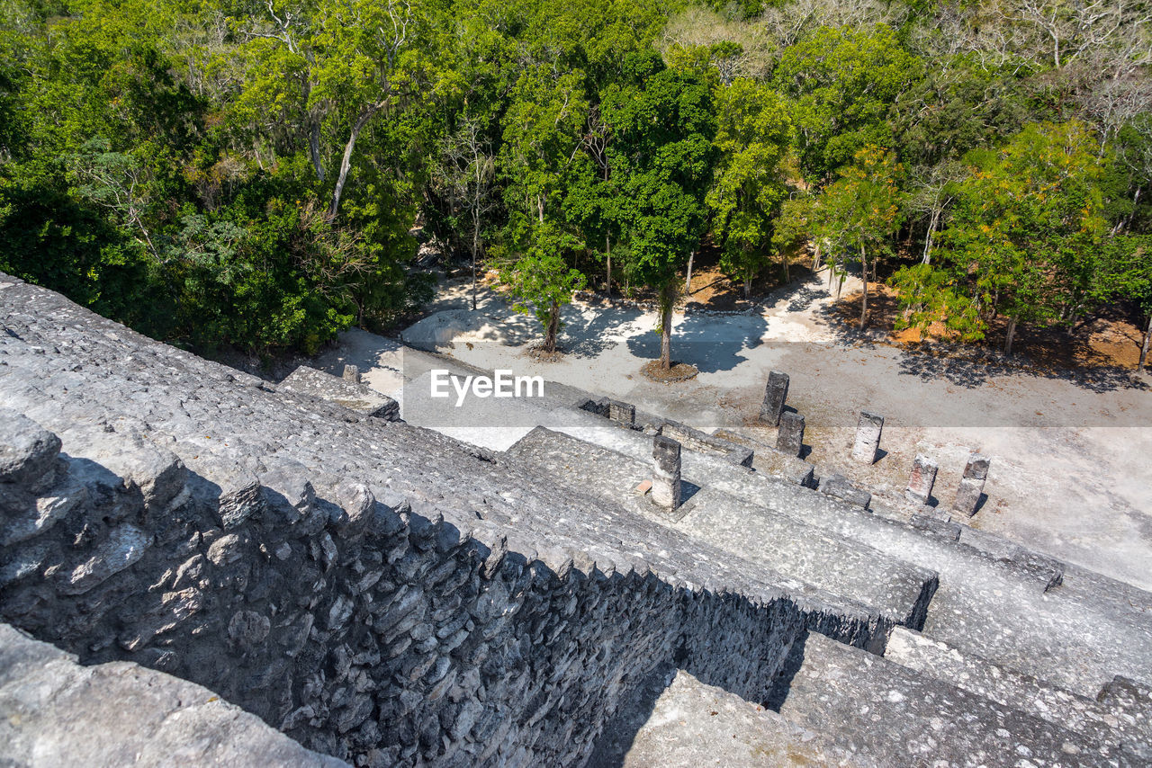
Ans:
[[[846,295],[856,289],[851,282],[843,288]],[[767,372],[783,371],[791,378],[788,405],[806,419],[806,458],[818,474],[843,472],[873,491],[878,505],[900,514],[912,459],[925,454],[940,465],[935,495],[947,507],[968,454],[980,450],[992,466],[987,501],[972,525],[1152,590],[1149,379],[1037,373],[877,344],[844,328],[816,275],[780,289],[751,313],[677,314],[673,356],[700,373],[661,385],[639,374],[659,352],[652,312],[623,304],[566,307],[566,355],[539,363],[526,353],[539,341],[535,319],[491,291],[480,298],[472,311],[467,282],[442,283],[429,317],[407,328],[402,341],[770,444],[775,429],[757,426],[755,416]],[[402,397],[404,381],[425,374],[432,359],[354,330],[318,365],[339,372],[355,363],[370,386]],[[861,410],[886,418],[884,454],[871,466],[849,457]],[[470,426],[457,425],[457,436],[467,440]]]

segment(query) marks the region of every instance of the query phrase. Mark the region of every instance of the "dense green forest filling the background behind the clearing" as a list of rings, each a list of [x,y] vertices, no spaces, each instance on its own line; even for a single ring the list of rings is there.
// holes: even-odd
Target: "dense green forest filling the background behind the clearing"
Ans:
[[[0,0],[0,269],[152,336],[313,351],[430,296],[415,222],[554,349],[811,246],[978,340],[1152,327],[1144,0]],[[475,297],[475,287],[473,287]],[[1147,340],[1145,339],[1145,342]],[[1145,343],[1146,347],[1146,343]],[[1143,362],[1143,359],[1142,359]]]

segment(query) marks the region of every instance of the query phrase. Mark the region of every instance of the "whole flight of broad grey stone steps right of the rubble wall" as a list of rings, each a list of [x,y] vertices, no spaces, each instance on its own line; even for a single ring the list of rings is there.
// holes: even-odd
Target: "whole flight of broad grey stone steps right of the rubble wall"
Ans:
[[[774,729],[773,744],[793,737],[806,744],[797,736],[804,732],[847,735],[820,748],[833,750],[826,755],[843,750],[855,762],[827,758],[831,765],[1128,766],[1152,760],[1152,697],[1139,682],[1146,674],[1142,659],[1150,657],[1143,593],[1074,567],[1066,571],[983,532],[941,538],[692,450],[683,451],[687,500],[668,514],[642,493],[652,472],[638,454],[645,443],[651,450],[652,439],[616,432],[608,433],[609,442],[628,453],[605,448],[602,438],[593,444],[544,428],[508,453],[536,463],[558,484],[614,500],[884,616],[909,604],[909,581],[902,581],[903,591],[897,587],[901,575],[915,583],[939,573],[923,632],[915,631],[916,623],[897,622],[902,625],[893,629],[884,657],[809,636],[795,660],[795,677],[778,689],[783,720],[759,721],[759,729]],[[1067,581],[1054,579],[1054,572]],[[903,596],[894,602],[895,595]],[[1135,678],[1115,677],[1117,671]],[[712,753],[725,755],[720,765],[765,765],[741,762],[743,752],[729,751],[730,732],[751,732],[740,725],[741,706],[748,702],[712,706],[710,712],[718,713],[708,715],[712,727],[692,730],[702,717],[692,702],[723,699],[723,692],[705,693],[699,686],[681,682],[661,694],[622,765],[655,765],[654,745],[669,755],[664,765],[713,765],[705,759]],[[677,722],[688,730],[674,735],[661,713],[680,713]],[[789,736],[794,728],[799,730]],[[699,744],[694,746],[694,739]],[[808,765],[799,758],[768,762]]]

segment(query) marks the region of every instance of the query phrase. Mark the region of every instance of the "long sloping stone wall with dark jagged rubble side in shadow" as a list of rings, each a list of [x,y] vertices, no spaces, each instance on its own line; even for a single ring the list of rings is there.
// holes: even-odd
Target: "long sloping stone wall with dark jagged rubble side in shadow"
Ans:
[[[309,750],[581,765],[660,664],[758,701],[805,626],[880,631],[514,457],[3,275],[0,322],[0,622],[203,685]]]

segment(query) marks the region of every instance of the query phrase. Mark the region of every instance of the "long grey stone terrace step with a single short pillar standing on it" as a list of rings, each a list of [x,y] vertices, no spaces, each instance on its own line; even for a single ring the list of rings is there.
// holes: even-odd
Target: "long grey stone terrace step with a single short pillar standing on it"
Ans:
[[[740,557],[861,603],[893,624],[923,623],[935,590],[937,576],[930,570],[712,488],[700,488],[705,479],[692,474],[685,474],[684,480],[698,491],[676,515],[669,516],[637,489],[651,478],[651,462],[568,434],[538,427],[508,453],[535,463],[562,485],[579,487]]]

